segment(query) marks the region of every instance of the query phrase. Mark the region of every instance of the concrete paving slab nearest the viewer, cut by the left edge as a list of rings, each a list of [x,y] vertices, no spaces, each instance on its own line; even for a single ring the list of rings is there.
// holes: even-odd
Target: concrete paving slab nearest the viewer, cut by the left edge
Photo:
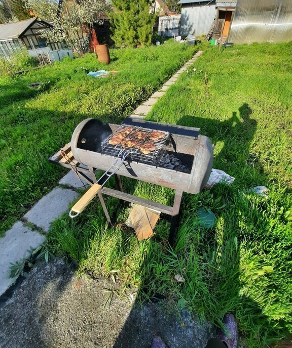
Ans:
[[[35,249],[45,240],[45,236],[32,231],[18,221],[0,238],[0,296],[14,283],[15,279],[9,278],[10,266],[27,257],[27,250]]]

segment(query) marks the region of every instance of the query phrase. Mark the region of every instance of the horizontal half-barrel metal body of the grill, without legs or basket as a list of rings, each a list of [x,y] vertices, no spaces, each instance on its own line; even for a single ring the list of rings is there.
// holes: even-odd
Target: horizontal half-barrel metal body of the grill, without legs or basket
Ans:
[[[205,187],[212,169],[213,147],[207,137],[199,134],[198,128],[132,119],[126,119],[124,123],[169,132],[169,151],[183,158],[185,156],[185,160],[191,166],[191,172],[186,173],[129,159],[118,170],[118,175],[191,194],[197,194]],[[116,157],[102,153],[101,144],[119,126],[101,125],[96,119],[82,121],[71,138],[71,151],[74,157],[89,167],[107,170]]]

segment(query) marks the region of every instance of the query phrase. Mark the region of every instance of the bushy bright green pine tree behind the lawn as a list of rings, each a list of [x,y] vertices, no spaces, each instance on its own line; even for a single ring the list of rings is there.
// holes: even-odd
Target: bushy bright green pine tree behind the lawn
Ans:
[[[115,11],[109,14],[112,38],[117,46],[140,47],[151,43],[155,15],[152,0],[113,0]]]

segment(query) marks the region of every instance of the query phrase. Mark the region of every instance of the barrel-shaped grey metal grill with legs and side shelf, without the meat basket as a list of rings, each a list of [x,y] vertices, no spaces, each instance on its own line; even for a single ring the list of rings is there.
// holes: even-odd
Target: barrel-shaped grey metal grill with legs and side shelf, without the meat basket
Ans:
[[[113,135],[121,126],[116,124],[103,126],[97,119],[86,119],[82,121],[76,127],[72,135],[71,143],[66,144],[64,148],[51,156],[49,161],[74,170],[78,173],[78,176],[85,179],[92,187],[102,186],[98,187],[95,194],[97,193],[106,219],[110,224],[113,224],[113,221],[107,211],[103,197],[104,195],[118,198],[124,202],[142,205],[170,216],[171,223],[168,240],[169,243],[173,245],[178,226],[182,192],[197,194],[205,187],[210,176],[213,162],[212,143],[207,137],[199,134],[198,128],[162,124],[144,120],[127,119],[125,121],[132,127],[137,127],[137,131],[138,129],[141,129],[142,126],[150,133],[153,129],[159,132],[165,132],[165,134],[168,133],[170,136],[168,137],[167,135],[164,140],[165,142],[162,142],[164,144],[161,146],[157,144],[159,145],[157,146],[159,149],[157,157],[159,157],[159,153],[163,152],[165,147],[168,147],[168,138],[170,138],[169,146],[172,146],[172,150],[170,151],[182,155],[182,157],[190,163],[190,172],[181,172],[167,169],[156,164],[153,165],[152,161],[153,158],[155,158],[155,154],[153,153],[149,153],[148,157],[143,155],[143,161],[135,161],[134,158],[136,155],[142,155],[139,152],[139,148],[136,148],[136,150],[123,148],[123,152],[130,152],[129,156],[131,157],[131,160],[127,160],[124,165],[115,170],[113,162],[122,149],[115,145],[108,146],[110,144],[106,142],[106,138],[108,138],[109,135]],[[127,127],[128,124],[124,124],[123,127]],[[110,132],[107,132],[108,127],[111,128]],[[116,155],[113,151],[116,151]],[[150,161],[149,163],[144,163],[145,157],[147,157],[146,160]],[[121,158],[118,160],[116,165],[119,166],[120,162]],[[104,175],[103,178],[99,179],[98,184],[100,185],[96,183],[95,170],[97,168],[104,170],[105,172],[108,171],[108,176]],[[108,168],[111,168],[112,171]],[[110,175],[114,175],[115,177],[116,189],[103,187],[105,181]],[[123,192],[120,176],[174,189],[175,196],[173,206],[160,204]],[[92,187],[88,191],[93,189]]]

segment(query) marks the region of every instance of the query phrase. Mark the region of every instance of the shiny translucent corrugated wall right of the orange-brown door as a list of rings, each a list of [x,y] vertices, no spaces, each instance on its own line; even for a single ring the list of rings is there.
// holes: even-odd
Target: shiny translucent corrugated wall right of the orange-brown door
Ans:
[[[292,0],[238,0],[228,41],[292,40]]]

